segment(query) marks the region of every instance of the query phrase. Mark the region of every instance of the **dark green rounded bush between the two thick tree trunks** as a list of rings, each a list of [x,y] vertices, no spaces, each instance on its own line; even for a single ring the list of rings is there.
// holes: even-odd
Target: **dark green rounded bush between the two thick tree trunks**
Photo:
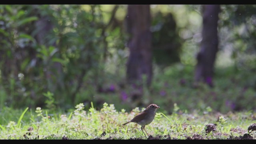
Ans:
[[[153,15],[152,18],[152,46],[156,64],[169,66],[180,62],[181,38],[176,29],[176,22],[172,13]]]

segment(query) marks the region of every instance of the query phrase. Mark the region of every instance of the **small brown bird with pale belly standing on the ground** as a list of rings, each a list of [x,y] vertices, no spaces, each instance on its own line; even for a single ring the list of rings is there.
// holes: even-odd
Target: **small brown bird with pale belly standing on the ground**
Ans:
[[[154,120],[156,115],[156,110],[158,108],[160,108],[160,106],[157,106],[156,104],[150,104],[143,112],[135,116],[132,120],[122,124],[122,126],[128,124],[129,122],[135,122],[141,126],[141,130],[143,132],[143,129],[145,130],[145,126],[150,124]],[[146,130],[145,132],[147,133]],[[143,134],[146,136],[144,132]]]

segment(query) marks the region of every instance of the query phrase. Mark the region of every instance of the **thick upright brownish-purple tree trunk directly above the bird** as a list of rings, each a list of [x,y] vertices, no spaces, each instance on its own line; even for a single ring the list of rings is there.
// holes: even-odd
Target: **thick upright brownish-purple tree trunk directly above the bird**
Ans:
[[[141,82],[146,74],[148,86],[152,79],[152,48],[150,32],[150,5],[128,5],[127,27],[130,34],[127,62],[127,80]]]

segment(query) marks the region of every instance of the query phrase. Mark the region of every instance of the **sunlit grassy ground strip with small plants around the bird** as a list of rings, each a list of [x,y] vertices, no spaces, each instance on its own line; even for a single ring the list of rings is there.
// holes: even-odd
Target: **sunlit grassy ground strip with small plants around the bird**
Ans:
[[[187,113],[175,104],[171,115],[156,114],[145,127],[150,135],[145,137],[138,124],[122,126],[141,110],[117,111],[106,103],[100,110],[91,103],[88,111],[78,104],[70,113],[4,108],[0,112],[0,139],[256,139],[256,128],[251,126],[256,115],[252,111],[221,114],[208,107]]]

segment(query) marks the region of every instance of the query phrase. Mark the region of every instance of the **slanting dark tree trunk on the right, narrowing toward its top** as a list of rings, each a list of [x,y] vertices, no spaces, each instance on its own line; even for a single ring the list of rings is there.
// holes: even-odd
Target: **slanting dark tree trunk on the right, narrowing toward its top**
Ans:
[[[201,50],[197,55],[195,81],[213,86],[214,62],[218,51],[218,14],[220,5],[204,5]]]

